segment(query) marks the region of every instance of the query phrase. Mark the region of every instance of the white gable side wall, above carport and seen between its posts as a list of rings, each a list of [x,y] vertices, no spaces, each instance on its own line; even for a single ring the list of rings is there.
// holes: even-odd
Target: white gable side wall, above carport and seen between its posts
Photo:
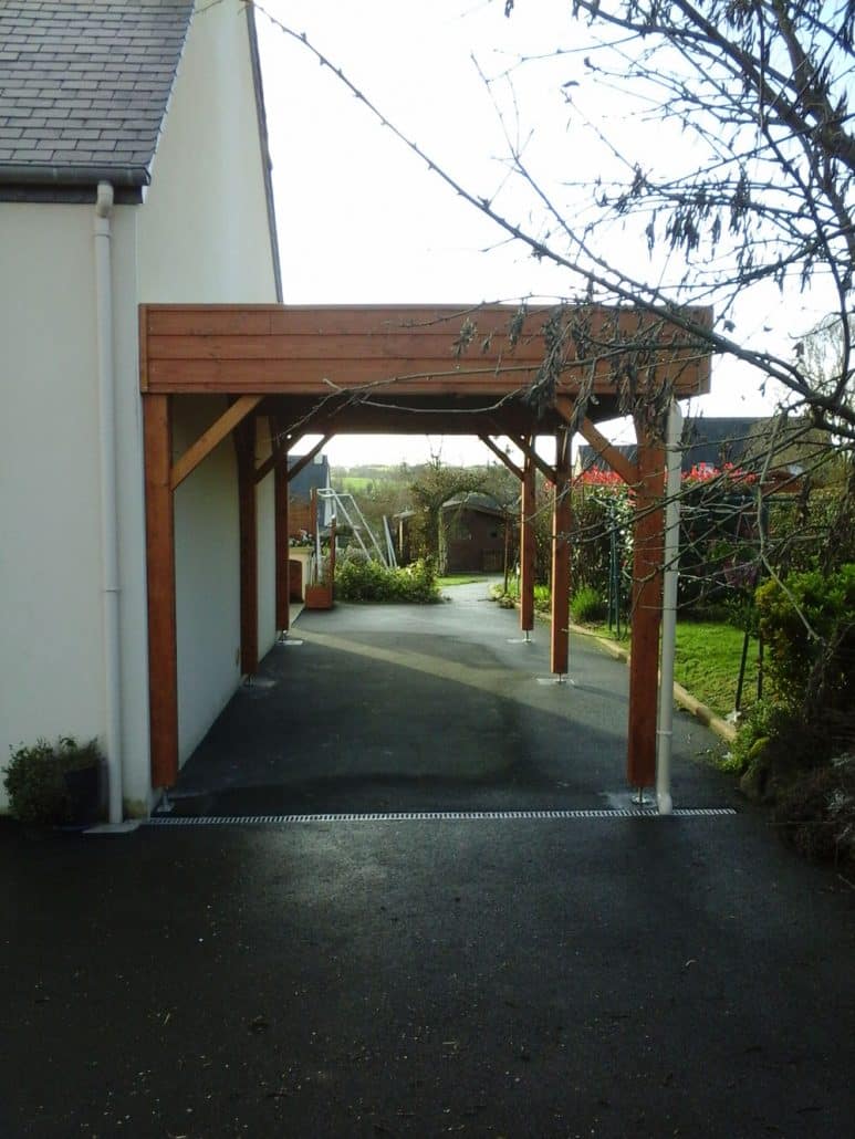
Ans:
[[[243,5],[203,5],[190,26],[138,211],[140,302],[275,302],[276,284]],[[225,409],[174,401],[180,453]],[[262,448],[263,450],[263,448]],[[269,484],[269,485],[268,485]],[[259,495],[259,647],[275,637],[272,480]],[[225,441],[176,492],[179,756],[239,683],[237,466]]]

